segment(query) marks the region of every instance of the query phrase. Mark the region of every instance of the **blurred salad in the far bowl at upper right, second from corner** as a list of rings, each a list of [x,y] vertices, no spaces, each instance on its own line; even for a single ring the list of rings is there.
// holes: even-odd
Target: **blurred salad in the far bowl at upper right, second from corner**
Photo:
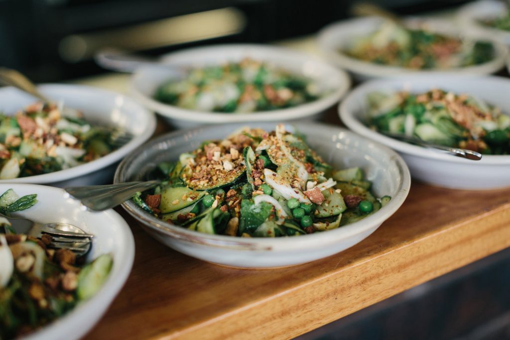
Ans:
[[[375,64],[444,69],[489,62],[494,59],[495,48],[491,42],[459,39],[387,21],[374,33],[355,39],[341,53]]]

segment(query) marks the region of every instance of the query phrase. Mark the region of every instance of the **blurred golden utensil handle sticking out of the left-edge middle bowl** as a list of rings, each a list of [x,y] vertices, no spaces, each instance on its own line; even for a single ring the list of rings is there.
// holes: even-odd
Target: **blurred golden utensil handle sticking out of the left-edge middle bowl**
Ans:
[[[7,68],[0,67],[0,83],[4,83],[6,85],[14,86],[15,88],[20,89],[21,91],[27,92],[28,94],[38,98],[42,102],[46,104],[56,103],[54,100],[49,99],[45,95],[43,95],[38,89],[37,86],[34,85],[27,77],[25,77],[20,72]],[[80,117],[81,113],[78,110],[64,107],[62,102],[58,103],[60,111],[62,115],[65,117]]]

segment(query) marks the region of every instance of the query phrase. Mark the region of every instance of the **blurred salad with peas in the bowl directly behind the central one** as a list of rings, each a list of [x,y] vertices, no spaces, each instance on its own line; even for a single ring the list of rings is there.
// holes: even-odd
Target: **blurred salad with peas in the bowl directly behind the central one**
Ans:
[[[255,112],[290,108],[316,100],[309,79],[252,59],[190,69],[184,79],[162,84],[156,100],[209,112]]]

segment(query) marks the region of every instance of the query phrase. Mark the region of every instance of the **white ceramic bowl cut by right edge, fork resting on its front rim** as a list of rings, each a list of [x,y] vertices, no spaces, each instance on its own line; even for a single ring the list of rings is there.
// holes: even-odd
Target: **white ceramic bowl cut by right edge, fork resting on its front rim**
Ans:
[[[510,80],[497,76],[455,77],[409,74],[399,79],[374,80],[349,93],[339,106],[340,118],[362,136],[385,144],[400,153],[413,177],[432,185],[484,190],[510,186],[510,155],[484,155],[480,161],[470,161],[435,150],[426,149],[386,137],[368,128],[367,95],[373,91],[401,90],[425,92],[440,88],[455,93],[469,93],[510,113]]]

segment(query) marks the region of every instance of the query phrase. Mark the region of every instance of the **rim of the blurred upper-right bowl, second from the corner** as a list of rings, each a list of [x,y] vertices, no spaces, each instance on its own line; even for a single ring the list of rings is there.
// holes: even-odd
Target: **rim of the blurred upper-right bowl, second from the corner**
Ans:
[[[488,61],[479,65],[465,66],[465,67],[455,67],[455,68],[447,68],[447,69],[411,69],[405,68],[401,66],[387,66],[387,65],[377,65],[375,63],[361,61],[359,59],[355,59],[345,55],[344,53],[340,53],[338,50],[333,50],[329,48],[329,44],[325,41],[328,40],[330,35],[336,35],[336,32],[339,31],[354,31],[353,26],[357,26],[360,22],[374,22],[374,21],[382,21],[384,20],[381,17],[376,16],[368,16],[361,18],[352,18],[340,22],[334,22],[328,24],[324,27],[318,34],[318,44],[320,49],[326,55],[327,59],[336,65],[343,67],[351,72],[358,73],[364,75],[366,77],[394,77],[398,76],[402,73],[416,73],[416,74],[456,74],[462,73],[464,76],[476,76],[481,74],[490,74],[494,73],[505,65],[506,56],[508,55],[507,47],[499,40],[487,34],[465,34],[458,29],[454,22],[442,19],[442,18],[432,18],[432,17],[407,17],[404,21],[406,22],[430,22],[430,23],[439,23],[442,27],[436,29],[435,32],[445,32],[443,26],[448,26],[452,30],[456,31],[458,35],[471,37],[478,40],[489,40],[494,44],[496,50],[496,56],[493,60]],[[452,35],[451,32],[445,32],[445,34]],[[352,39],[352,37],[350,38]],[[338,46],[337,46],[338,47]]]

